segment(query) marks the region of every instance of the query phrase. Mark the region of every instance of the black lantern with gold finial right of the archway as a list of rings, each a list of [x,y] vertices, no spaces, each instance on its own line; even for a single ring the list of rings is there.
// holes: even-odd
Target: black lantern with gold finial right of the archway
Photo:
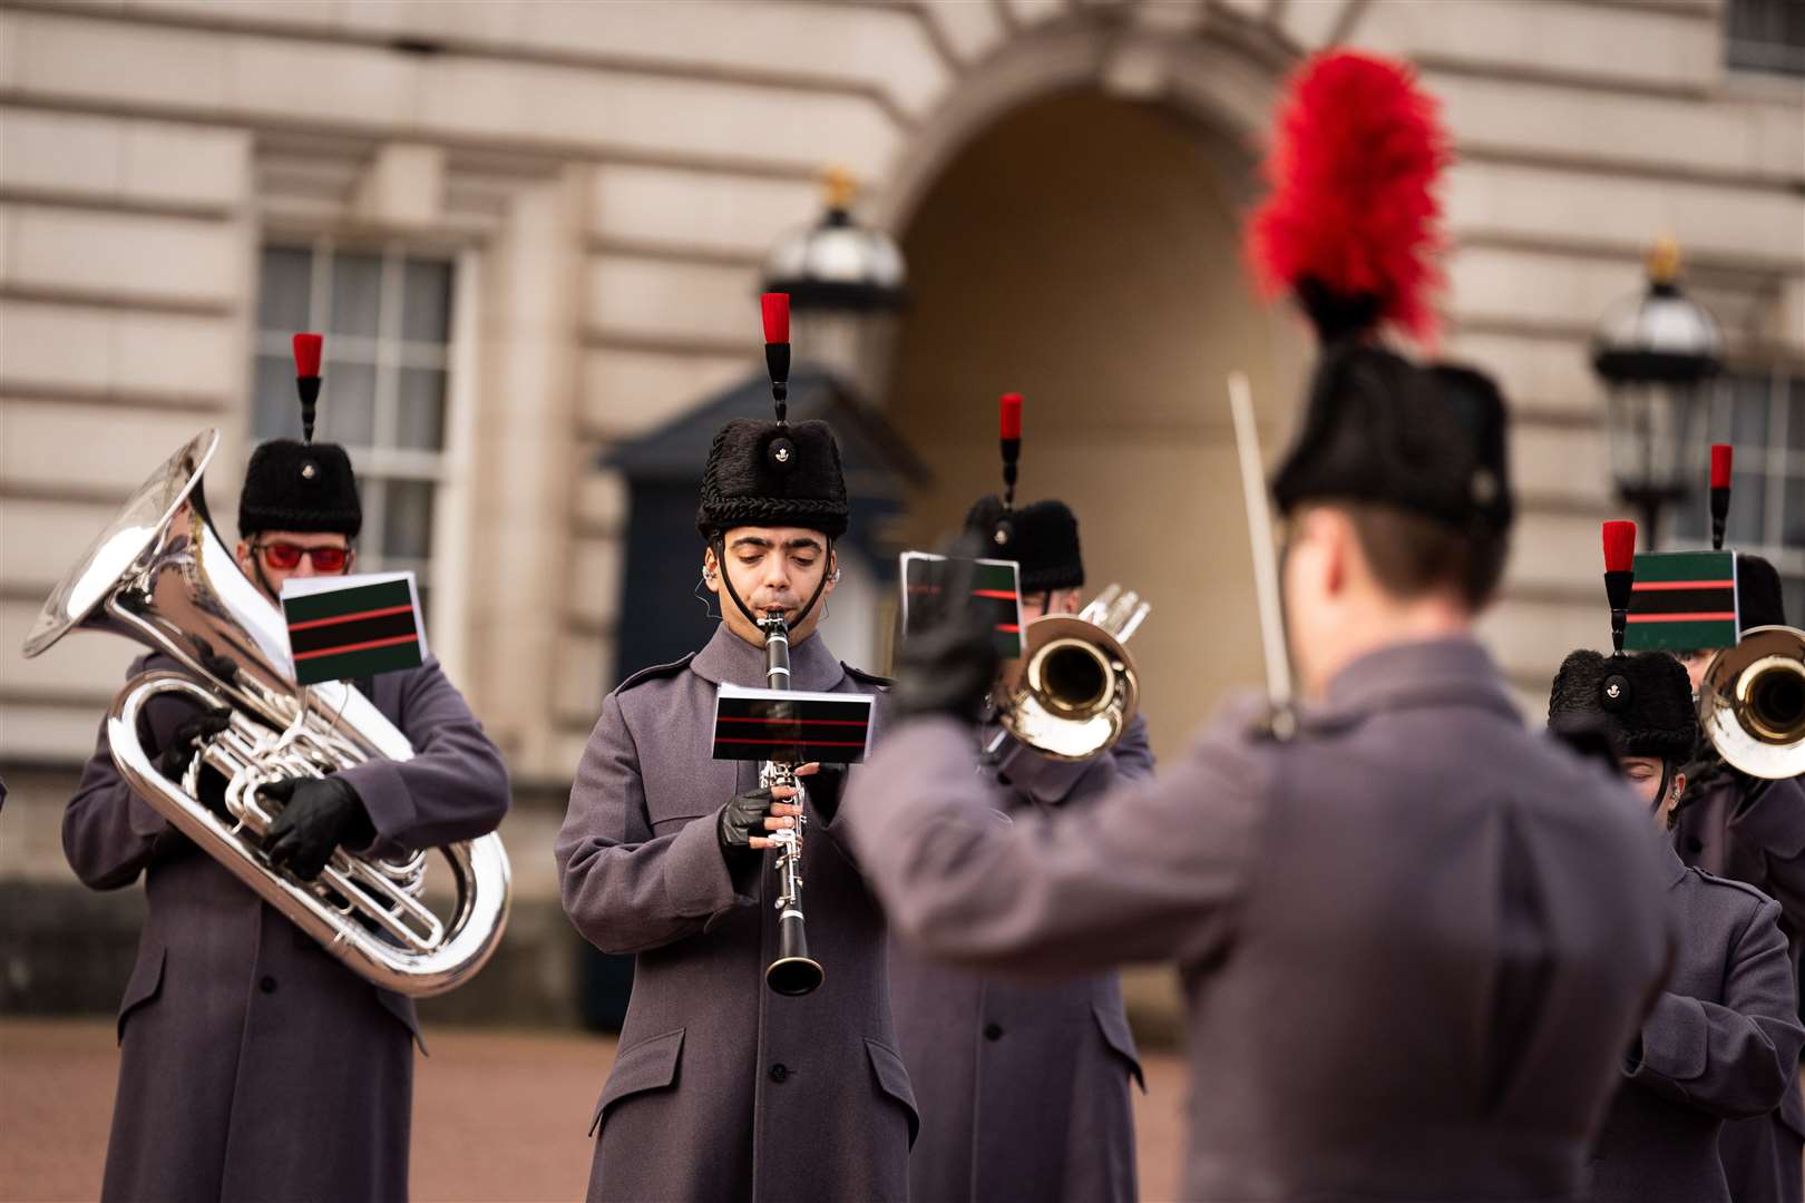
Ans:
[[[1605,381],[1617,496],[1643,519],[1655,548],[1661,509],[1691,491],[1724,332],[1679,287],[1679,245],[1662,238],[1648,256],[1648,289],[1619,301],[1597,326],[1592,370]]]

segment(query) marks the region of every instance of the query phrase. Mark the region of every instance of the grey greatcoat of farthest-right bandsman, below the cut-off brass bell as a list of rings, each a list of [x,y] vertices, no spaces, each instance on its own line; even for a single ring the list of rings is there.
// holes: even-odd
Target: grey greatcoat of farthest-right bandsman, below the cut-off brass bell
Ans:
[[[1673,846],[1686,864],[1754,886],[1780,904],[1798,981],[1805,956],[1805,779],[1747,790],[1726,772],[1700,785],[1697,801],[1677,815]],[[1718,1145],[1736,1203],[1805,1199],[1805,1097],[1798,1082],[1771,1115],[1724,1124]]]

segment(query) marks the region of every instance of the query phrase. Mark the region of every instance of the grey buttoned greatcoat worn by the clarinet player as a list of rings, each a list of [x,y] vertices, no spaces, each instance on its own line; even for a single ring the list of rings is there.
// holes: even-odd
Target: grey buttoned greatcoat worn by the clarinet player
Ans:
[[[794,689],[877,693],[819,635],[791,649],[791,675]],[[720,684],[765,684],[764,649],[726,624],[695,657],[610,693],[558,833],[570,922],[605,952],[637,954],[588,1125],[588,1198],[901,1201],[917,1120],[883,911],[843,819],[823,822],[810,797],[803,911],[827,976],[801,997],[765,987],[778,880],[773,855],[729,869],[720,851],[720,808],[758,785],[756,763],[709,758]]]

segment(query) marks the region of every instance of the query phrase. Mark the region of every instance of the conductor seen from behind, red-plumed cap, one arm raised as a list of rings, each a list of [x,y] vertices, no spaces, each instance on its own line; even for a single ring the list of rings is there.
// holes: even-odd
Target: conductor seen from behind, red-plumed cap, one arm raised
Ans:
[[[1435,213],[1433,101],[1327,54],[1285,141],[1260,258],[1325,339],[1273,483],[1303,703],[1233,705],[1153,781],[998,824],[971,754],[996,651],[955,610],[904,640],[904,721],[847,817],[926,956],[1179,961],[1186,1199],[1576,1198],[1668,963],[1661,848],[1473,638],[1513,516],[1502,397],[1375,344],[1433,319],[1433,231],[1399,222]]]

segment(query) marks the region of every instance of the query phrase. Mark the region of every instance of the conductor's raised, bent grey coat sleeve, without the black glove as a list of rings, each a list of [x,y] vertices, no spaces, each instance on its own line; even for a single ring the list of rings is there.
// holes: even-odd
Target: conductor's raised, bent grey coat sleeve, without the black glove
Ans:
[[[1231,936],[1254,855],[1264,758],[1218,727],[1159,781],[1011,822],[971,732],[922,718],[890,736],[847,801],[866,880],[926,956],[1023,974],[1200,960]]]

